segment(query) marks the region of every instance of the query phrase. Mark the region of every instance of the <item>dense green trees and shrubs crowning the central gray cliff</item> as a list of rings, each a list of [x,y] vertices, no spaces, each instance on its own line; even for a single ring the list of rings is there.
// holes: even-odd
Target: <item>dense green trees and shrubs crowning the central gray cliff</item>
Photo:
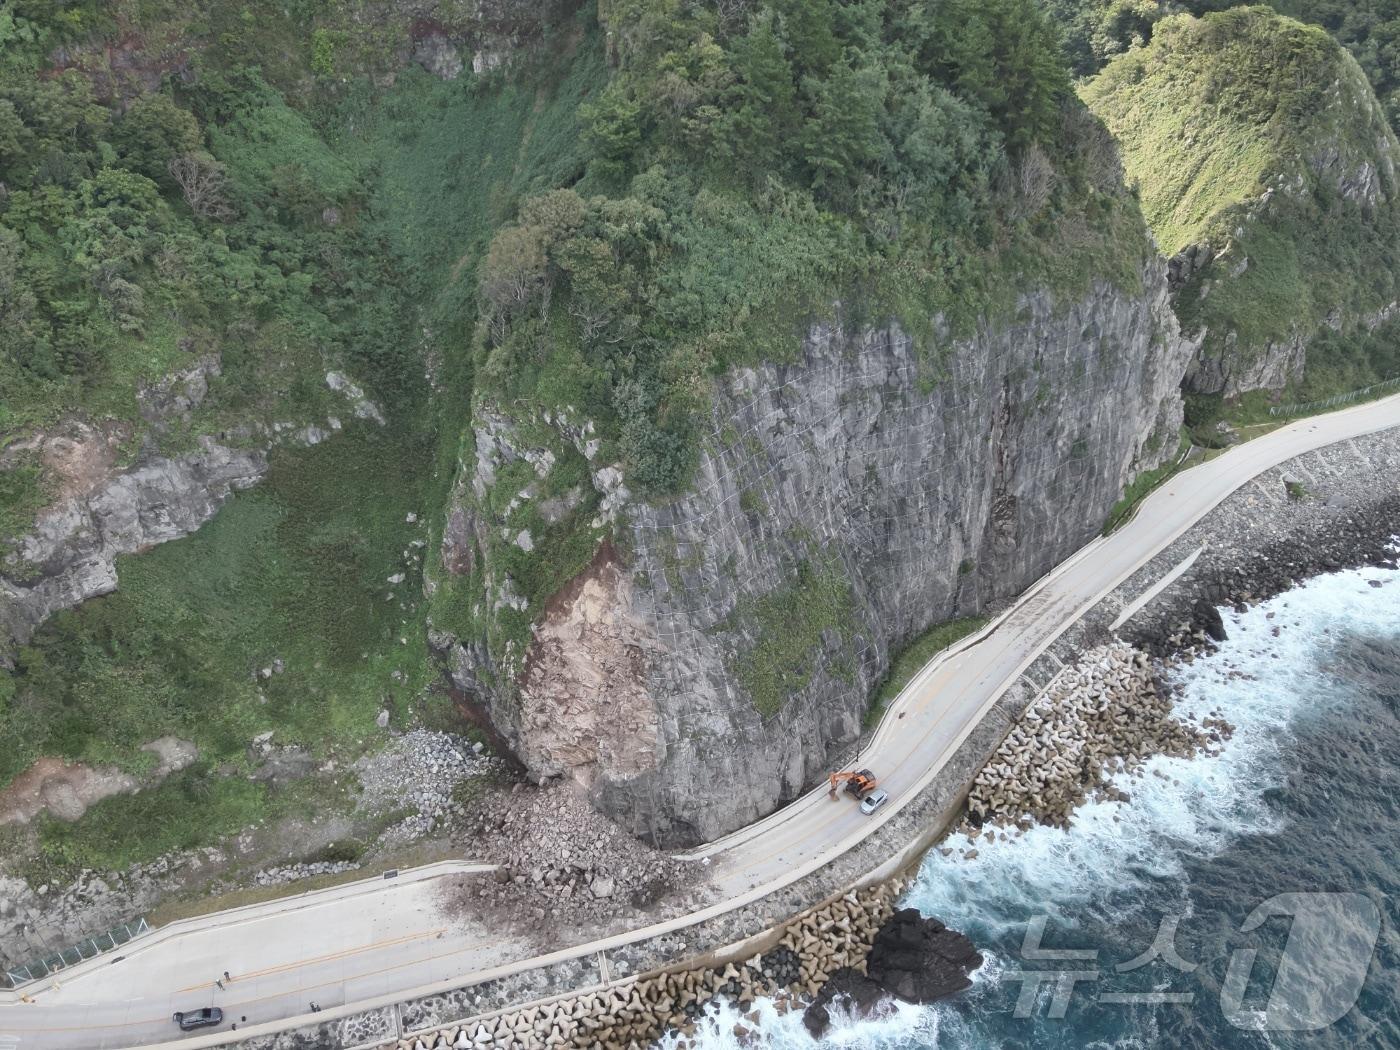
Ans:
[[[710,377],[804,325],[970,325],[1042,281],[1137,279],[1141,224],[1030,0],[605,7],[588,167],[482,266],[479,396],[573,405],[629,484],[685,487]],[[1121,217],[1126,216],[1127,221]]]

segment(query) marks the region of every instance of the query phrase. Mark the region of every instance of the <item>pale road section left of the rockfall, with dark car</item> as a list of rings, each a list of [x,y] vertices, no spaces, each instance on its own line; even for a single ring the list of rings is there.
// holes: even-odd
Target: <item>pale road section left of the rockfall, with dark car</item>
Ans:
[[[223,1008],[225,1030],[241,1018],[239,1028],[249,1028],[304,1014],[311,1002],[333,1008],[445,980],[463,960],[490,966],[519,958],[525,945],[441,907],[454,879],[490,878],[489,871],[430,865],[182,923],[188,930],[175,937],[157,931],[60,973],[56,988],[28,988],[34,1004],[0,1007],[0,1050],[154,1043],[176,1033],[176,1009],[210,1005]]]

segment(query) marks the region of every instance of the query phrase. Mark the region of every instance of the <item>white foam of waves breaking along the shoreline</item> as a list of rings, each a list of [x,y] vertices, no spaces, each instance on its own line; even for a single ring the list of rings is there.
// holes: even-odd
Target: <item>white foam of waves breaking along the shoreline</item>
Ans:
[[[1280,818],[1264,804],[1264,792],[1281,783],[1277,756],[1289,725],[1326,717],[1344,703],[1319,666],[1319,652],[1330,644],[1329,636],[1348,630],[1400,638],[1400,571],[1361,568],[1316,577],[1245,613],[1222,610],[1222,616],[1229,640],[1175,676],[1184,690],[1177,701],[1182,714],[1198,720],[1215,711],[1235,725],[1217,757],[1162,756],[1137,777],[1116,777],[1130,799],[1082,806],[1070,832],[1036,827],[993,843],[952,836],[944,846],[953,854],[931,853],[904,903],[974,941],[1015,938],[1028,914],[1049,914],[1056,944],[1074,946],[1075,918],[1112,918],[1098,914],[1110,895],[1121,916],[1123,889],[1184,876],[1187,858],[1214,855],[1243,834],[1277,830]],[[965,860],[962,851],[973,847],[977,857]],[[995,986],[1005,969],[988,959],[976,979],[984,988]],[[967,993],[976,994],[976,988]],[[770,1001],[753,1008],[756,1023],[732,1004],[711,1009],[690,1043],[703,1050],[818,1046],[799,1012],[780,1016]],[[822,1047],[893,1050],[981,1042],[951,1007],[900,1004],[886,1018],[857,1021],[833,1012],[833,1021]],[[753,1033],[741,1039],[736,1025]]]

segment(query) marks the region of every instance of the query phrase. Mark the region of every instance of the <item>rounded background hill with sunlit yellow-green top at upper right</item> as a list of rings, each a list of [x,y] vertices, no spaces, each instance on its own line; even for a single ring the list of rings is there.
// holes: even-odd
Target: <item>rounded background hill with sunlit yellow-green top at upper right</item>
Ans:
[[[1369,333],[1397,298],[1400,144],[1341,45],[1264,7],[1179,15],[1084,97],[1172,260],[1173,305],[1200,343],[1189,391],[1389,378],[1344,374],[1337,339],[1319,339]]]

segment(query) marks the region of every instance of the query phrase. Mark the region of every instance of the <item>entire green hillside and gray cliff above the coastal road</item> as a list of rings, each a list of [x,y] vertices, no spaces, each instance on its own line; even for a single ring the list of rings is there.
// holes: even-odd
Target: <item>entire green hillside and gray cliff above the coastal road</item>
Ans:
[[[6,858],[328,812],[358,857],[403,815],[347,770],[458,706],[633,830],[750,818],[1173,458],[1177,314],[1201,360],[1306,329],[1271,398],[1382,375],[1350,322],[1393,298],[1361,70],[1392,105],[1394,20],[1299,13],[1358,69],[1162,14],[0,6],[0,791],[41,759],[141,788]],[[1364,207],[1306,174],[1337,143]],[[1158,249],[1246,211],[1250,266],[1169,298]],[[1245,386],[1200,389],[1214,423]]]

